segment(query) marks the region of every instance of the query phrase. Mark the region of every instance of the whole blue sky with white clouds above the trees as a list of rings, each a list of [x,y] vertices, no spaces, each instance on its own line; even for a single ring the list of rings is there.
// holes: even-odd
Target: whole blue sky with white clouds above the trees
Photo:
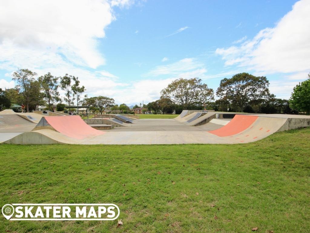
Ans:
[[[180,77],[216,91],[249,72],[289,98],[310,72],[309,8],[308,0],[2,1],[0,88],[14,86],[17,68],[69,73],[88,96],[131,105],[158,99]]]

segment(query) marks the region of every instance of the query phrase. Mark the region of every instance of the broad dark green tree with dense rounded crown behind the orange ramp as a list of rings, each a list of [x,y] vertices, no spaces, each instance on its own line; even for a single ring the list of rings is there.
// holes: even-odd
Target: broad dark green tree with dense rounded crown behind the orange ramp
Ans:
[[[243,109],[250,101],[268,98],[269,81],[264,76],[256,77],[248,73],[239,73],[232,78],[224,78],[219,84],[216,95],[232,105]]]

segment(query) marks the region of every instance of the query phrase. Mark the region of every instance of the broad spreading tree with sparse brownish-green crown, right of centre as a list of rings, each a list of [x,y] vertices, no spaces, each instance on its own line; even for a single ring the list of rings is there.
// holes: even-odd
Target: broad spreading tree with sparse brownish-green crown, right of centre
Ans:
[[[160,93],[162,98],[169,98],[174,103],[183,105],[184,109],[214,99],[213,89],[202,84],[202,80],[198,78],[177,79]]]

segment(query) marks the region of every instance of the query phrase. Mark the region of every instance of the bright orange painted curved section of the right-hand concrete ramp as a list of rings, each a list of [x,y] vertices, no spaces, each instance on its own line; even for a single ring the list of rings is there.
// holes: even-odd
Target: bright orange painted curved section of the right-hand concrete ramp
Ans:
[[[235,115],[235,117],[232,118],[232,120],[227,125],[217,130],[208,132],[219,137],[235,135],[249,128],[257,118],[258,117],[256,116]]]

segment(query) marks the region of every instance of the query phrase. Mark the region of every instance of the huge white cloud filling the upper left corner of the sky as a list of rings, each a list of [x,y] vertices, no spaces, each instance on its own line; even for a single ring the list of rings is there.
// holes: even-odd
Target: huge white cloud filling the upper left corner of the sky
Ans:
[[[98,39],[115,20],[114,6],[132,0],[0,1],[0,68],[50,62],[96,68],[105,64]],[[28,66],[29,67],[29,66]]]

